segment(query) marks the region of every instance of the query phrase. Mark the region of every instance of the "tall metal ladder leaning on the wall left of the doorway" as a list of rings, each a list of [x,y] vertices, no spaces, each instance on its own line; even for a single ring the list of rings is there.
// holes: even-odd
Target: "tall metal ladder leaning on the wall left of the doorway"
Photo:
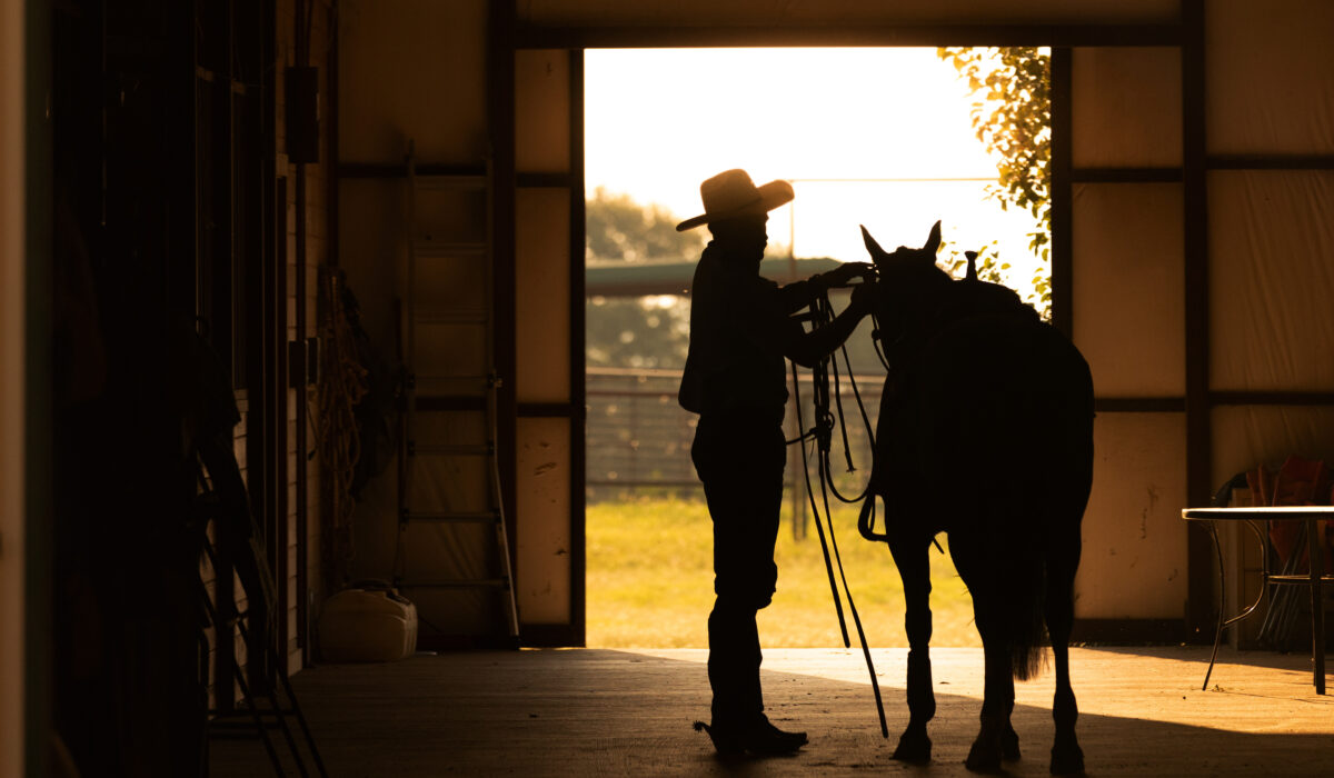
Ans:
[[[450,627],[439,625],[458,613],[444,605],[443,593],[492,593],[490,599],[498,602],[482,610],[499,606],[503,626],[467,637],[499,638],[518,647],[519,614],[496,456],[502,379],[494,356],[491,165],[482,173],[448,175],[420,175],[418,168],[410,141],[407,271],[399,296],[406,378],[394,583],[410,593],[422,625],[442,633],[438,638],[451,637],[443,634]],[[443,202],[446,207],[432,207],[432,195],[438,195],[436,206]],[[459,203],[486,216],[470,218]],[[432,222],[442,216],[446,223]],[[470,235],[479,222],[486,234]],[[438,238],[460,232],[464,240]]]

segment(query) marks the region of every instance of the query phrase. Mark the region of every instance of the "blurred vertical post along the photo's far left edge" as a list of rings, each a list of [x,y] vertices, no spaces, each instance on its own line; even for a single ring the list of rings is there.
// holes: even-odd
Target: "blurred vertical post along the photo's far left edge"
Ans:
[[[0,773],[48,773],[51,8],[0,1]]]

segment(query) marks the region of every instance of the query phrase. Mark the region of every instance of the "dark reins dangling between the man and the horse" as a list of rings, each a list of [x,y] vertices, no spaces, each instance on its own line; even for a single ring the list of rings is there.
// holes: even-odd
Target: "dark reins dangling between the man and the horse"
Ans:
[[[812,324],[812,327],[816,327],[816,328],[818,327],[823,327],[823,326],[827,326],[832,320],[832,318],[834,318],[834,315],[832,315],[832,307],[831,307],[830,299],[828,299],[828,292],[827,291],[822,291],[811,302],[811,324]],[[862,404],[862,396],[856,391],[856,382],[852,378],[852,367],[851,367],[851,363],[848,362],[848,358],[847,358],[847,348],[846,347],[840,347],[839,350],[843,352],[843,362],[847,366],[848,382],[852,386],[852,394],[854,394],[854,396],[856,396],[858,407],[862,410],[862,419],[863,419],[863,422],[866,422],[867,438],[872,442],[871,443],[871,450],[874,451],[875,446],[874,446],[874,435],[871,434],[871,422],[870,422],[870,419],[866,415],[866,407]],[[832,479],[831,472],[830,472],[830,448],[831,448],[832,432],[834,432],[834,414],[830,412],[830,396],[828,396],[830,395],[828,363],[830,363],[831,359],[832,359],[832,363],[834,363],[834,387],[835,387],[835,392],[839,391],[838,359],[836,358],[831,358],[831,356],[826,356],[826,358],[820,359],[815,364],[815,367],[811,368],[811,391],[812,391],[812,395],[814,395],[812,399],[814,399],[815,426],[811,427],[811,430],[808,432],[802,434],[796,439],[796,443],[802,446],[802,471],[803,471],[803,475],[806,476],[806,494],[807,494],[807,498],[810,499],[810,503],[811,503],[811,512],[815,516],[815,531],[816,531],[816,534],[820,538],[820,548],[824,552],[824,570],[828,574],[830,591],[834,595],[834,609],[838,611],[839,630],[843,634],[843,647],[844,649],[850,649],[851,647],[851,641],[848,639],[848,635],[847,635],[847,621],[843,618],[843,605],[839,601],[838,585],[834,580],[834,563],[835,562],[838,563],[839,579],[843,582],[843,595],[847,597],[847,607],[848,607],[848,611],[852,614],[852,623],[856,626],[856,635],[858,635],[858,638],[862,642],[862,655],[866,658],[866,670],[867,670],[867,673],[870,674],[870,678],[871,678],[871,691],[875,694],[875,711],[876,711],[876,714],[880,718],[880,737],[888,739],[888,737],[890,737],[890,727],[888,727],[888,723],[884,721],[884,702],[880,698],[880,685],[879,685],[879,682],[876,681],[876,677],[875,677],[875,663],[871,659],[871,649],[870,649],[870,646],[866,642],[866,630],[862,629],[862,617],[856,613],[856,603],[854,603],[854,601],[852,601],[852,590],[847,585],[847,574],[843,571],[843,559],[842,559],[842,556],[839,555],[839,551],[838,551],[838,539],[834,535],[834,515],[830,512],[830,498],[828,498],[828,494],[831,491],[834,492],[834,495],[839,500],[842,500],[844,503],[856,502],[856,500],[863,499],[863,498],[866,498],[868,503],[874,503],[874,500],[875,500],[875,496],[870,491],[870,482],[867,482],[866,488],[862,490],[860,496],[854,498],[851,500],[847,499],[847,498],[844,498],[843,495],[840,495],[838,492],[838,488],[834,487],[834,479]],[[800,430],[800,428],[804,427],[804,423],[802,420],[802,398],[800,398],[800,390],[799,390],[798,384],[799,384],[799,382],[798,382],[798,378],[796,378],[796,364],[794,363],[792,364],[792,391],[794,391],[794,398],[796,400],[796,423],[798,423],[798,428]],[[844,456],[847,459],[848,472],[852,472],[856,468],[852,466],[852,452],[851,452],[851,447],[848,446],[848,440],[847,440],[847,424],[843,423],[843,402],[842,402],[842,398],[838,396],[836,394],[835,394],[835,406],[838,407],[838,422],[840,424],[840,432],[842,432],[842,438],[843,438],[843,454],[844,454]],[[815,443],[816,443],[816,455],[818,455],[818,458],[816,458],[816,462],[818,462],[816,470],[819,472],[819,479],[820,479],[820,496],[822,496],[822,502],[824,504],[824,522],[828,523],[828,530],[830,530],[830,532],[828,532],[828,535],[830,535],[828,536],[828,543],[824,542],[824,530],[820,527],[820,511],[816,507],[816,503],[815,503],[815,491],[811,487],[811,474],[810,474],[810,466],[807,464],[807,459],[806,459],[806,443],[804,443],[804,440],[807,438],[814,438]],[[830,558],[830,547],[834,548],[832,560]]]

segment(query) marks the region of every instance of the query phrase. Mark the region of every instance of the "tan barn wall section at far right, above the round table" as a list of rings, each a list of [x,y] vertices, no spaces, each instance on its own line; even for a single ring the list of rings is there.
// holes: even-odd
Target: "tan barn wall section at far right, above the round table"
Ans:
[[[1331,36],[1334,5],[1318,0],[1206,5],[1207,466],[1215,486],[1290,455],[1334,462]],[[1230,555],[1229,566],[1242,580],[1242,555]],[[1229,613],[1247,594],[1225,593]]]

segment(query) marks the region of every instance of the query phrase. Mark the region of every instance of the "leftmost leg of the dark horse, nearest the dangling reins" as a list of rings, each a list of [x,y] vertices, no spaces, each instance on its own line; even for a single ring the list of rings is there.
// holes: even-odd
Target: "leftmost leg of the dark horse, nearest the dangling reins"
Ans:
[[[928,762],[931,738],[926,725],[935,717],[931,687],[931,562],[930,544],[915,540],[890,542],[890,554],[903,579],[903,626],[908,637],[908,726],[899,737],[894,758]]]

